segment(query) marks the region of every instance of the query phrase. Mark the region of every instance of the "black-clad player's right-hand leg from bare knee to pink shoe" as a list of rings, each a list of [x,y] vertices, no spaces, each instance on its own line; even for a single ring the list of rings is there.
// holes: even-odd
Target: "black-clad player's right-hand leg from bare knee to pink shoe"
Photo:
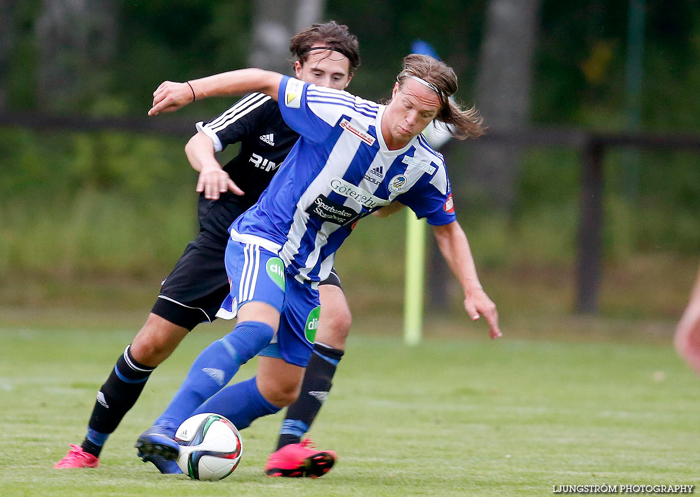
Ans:
[[[314,352],[307,365],[299,399],[287,409],[277,450],[265,465],[269,476],[318,477],[335,463],[333,451],[314,449],[311,440],[302,436],[316,418],[328,398],[337,363],[345,350],[352,317],[340,286],[318,286],[321,314],[314,343]]]

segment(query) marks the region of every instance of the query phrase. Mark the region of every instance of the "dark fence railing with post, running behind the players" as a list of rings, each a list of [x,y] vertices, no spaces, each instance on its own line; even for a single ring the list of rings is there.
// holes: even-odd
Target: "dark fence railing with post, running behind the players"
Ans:
[[[55,116],[32,112],[0,113],[2,127],[29,127],[45,131],[117,130],[190,137],[193,119],[181,116],[159,118],[92,118]],[[689,150],[700,152],[700,135],[632,134],[601,132],[561,127],[532,127],[517,131],[489,130],[480,141],[503,146],[552,146],[570,148],[580,154],[581,190],[577,238],[577,290],[574,309],[594,312],[598,309],[603,255],[603,160],[612,148],[647,150]]]

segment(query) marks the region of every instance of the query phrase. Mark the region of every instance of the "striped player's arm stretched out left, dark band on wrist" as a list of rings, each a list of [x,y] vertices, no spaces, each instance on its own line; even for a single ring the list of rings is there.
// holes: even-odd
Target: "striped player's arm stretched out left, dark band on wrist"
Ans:
[[[195,100],[208,97],[263,92],[276,100],[281,80],[280,73],[252,67],[193,79],[186,83],[164,81],[153,92],[153,107],[148,111],[148,116],[174,112]]]

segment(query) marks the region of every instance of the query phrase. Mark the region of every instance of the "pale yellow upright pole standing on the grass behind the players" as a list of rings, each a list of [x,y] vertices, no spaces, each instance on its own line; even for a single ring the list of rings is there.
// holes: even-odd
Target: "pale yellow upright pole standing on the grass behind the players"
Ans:
[[[426,220],[406,209],[406,269],[403,302],[403,341],[417,345],[423,334],[423,281],[425,280]]]

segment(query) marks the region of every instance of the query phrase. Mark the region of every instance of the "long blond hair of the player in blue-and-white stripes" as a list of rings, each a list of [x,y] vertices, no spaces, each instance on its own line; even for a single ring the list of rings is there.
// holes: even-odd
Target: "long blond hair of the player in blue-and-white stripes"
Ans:
[[[449,98],[457,91],[457,76],[450,66],[428,55],[412,53],[403,58],[403,69],[396,77],[399,87],[410,76],[426,81],[435,90],[442,104],[435,119],[451,125],[448,129],[453,137],[463,140],[484,134],[484,120],[477,108],[463,109]]]

